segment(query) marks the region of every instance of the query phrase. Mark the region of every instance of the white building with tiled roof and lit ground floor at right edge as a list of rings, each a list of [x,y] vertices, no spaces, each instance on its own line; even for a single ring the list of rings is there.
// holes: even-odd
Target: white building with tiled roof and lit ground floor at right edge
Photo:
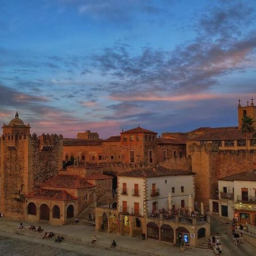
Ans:
[[[229,220],[238,218],[240,224],[255,225],[256,171],[224,177],[218,181],[218,213]],[[213,204],[213,200],[210,200]],[[214,212],[212,210],[212,212]]]

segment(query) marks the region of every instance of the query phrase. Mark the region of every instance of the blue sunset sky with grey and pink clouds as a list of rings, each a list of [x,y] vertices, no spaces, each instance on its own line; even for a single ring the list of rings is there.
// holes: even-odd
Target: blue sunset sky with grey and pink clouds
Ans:
[[[100,138],[237,126],[256,0],[0,0],[0,123]]]

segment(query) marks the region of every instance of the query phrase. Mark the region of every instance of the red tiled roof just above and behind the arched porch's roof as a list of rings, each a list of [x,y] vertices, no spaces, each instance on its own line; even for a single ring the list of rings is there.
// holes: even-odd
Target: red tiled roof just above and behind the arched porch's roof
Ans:
[[[94,185],[78,175],[59,174],[40,184],[40,187],[86,188],[94,187]]]

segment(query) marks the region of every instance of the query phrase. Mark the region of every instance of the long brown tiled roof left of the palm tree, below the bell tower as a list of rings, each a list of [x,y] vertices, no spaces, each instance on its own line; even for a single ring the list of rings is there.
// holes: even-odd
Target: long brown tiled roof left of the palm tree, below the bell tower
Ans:
[[[248,138],[252,138],[252,134],[250,134]],[[241,130],[221,129],[199,135],[189,139],[189,141],[225,141],[237,139],[245,139],[245,134],[243,134]]]

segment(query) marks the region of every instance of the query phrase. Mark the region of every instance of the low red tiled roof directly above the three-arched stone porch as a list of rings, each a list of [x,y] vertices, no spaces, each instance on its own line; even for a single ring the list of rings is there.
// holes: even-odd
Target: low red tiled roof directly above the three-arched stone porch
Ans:
[[[30,192],[28,195],[26,195],[26,197],[47,199],[47,200],[57,200],[57,201],[77,199],[77,197],[70,195],[65,190],[55,190],[55,189],[45,189],[45,188],[38,188],[35,191]]]

